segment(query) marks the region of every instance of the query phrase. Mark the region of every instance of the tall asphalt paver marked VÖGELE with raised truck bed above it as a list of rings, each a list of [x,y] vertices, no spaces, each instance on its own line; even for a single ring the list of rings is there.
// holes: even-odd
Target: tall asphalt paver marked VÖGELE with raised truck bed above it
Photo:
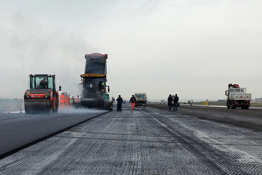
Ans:
[[[107,86],[107,54],[86,54],[85,59],[85,72],[80,75],[82,95],[80,102],[73,105],[112,110],[113,102],[109,98],[110,89]]]

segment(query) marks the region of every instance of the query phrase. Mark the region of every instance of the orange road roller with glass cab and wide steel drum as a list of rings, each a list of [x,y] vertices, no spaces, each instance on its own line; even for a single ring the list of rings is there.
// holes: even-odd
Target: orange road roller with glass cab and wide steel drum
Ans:
[[[59,91],[61,86],[59,86]],[[58,113],[59,94],[56,91],[55,75],[29,75],[29,89],[24,93],[26,114]]]

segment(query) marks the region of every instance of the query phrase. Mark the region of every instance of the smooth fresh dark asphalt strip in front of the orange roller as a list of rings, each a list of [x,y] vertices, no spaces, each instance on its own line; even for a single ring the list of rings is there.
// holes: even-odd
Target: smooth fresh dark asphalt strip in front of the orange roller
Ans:
[[[58,114],[49,115],[19,113],[20,108],[0,113],[0,155],[107,112],[73,108],[59,110]]]

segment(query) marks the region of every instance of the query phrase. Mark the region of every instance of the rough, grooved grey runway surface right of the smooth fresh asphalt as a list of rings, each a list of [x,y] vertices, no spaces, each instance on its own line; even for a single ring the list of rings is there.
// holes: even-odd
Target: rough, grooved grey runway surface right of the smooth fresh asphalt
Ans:
[[[124,104],[4,157],[0,174],[262,174],[262,132],[225,123],[260,125],[259,110],[166,107]]]

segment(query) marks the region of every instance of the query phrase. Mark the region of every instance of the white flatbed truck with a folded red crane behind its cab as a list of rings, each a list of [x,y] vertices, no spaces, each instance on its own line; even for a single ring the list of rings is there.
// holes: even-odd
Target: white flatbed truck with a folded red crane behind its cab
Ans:
[[[227,108],[248,109],[250,107],[251,94],[246,93],[246,88],[240,88],[238,84],[228,84],[225,91]]]

